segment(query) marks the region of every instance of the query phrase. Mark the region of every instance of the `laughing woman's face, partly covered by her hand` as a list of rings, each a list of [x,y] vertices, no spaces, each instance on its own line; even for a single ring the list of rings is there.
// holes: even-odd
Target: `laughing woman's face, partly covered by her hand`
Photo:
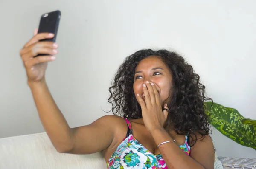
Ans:
[[[134,75],[134,93],[143,96],[143,84],[146,81],[153,82],[160,94],[160,103],[163,106],[163,101],[170,95],[172,87],[172,75],[169,68],[157,56],[149,56],[139,62],[135,68]],[[145,97],[142,97],[145,101]]]

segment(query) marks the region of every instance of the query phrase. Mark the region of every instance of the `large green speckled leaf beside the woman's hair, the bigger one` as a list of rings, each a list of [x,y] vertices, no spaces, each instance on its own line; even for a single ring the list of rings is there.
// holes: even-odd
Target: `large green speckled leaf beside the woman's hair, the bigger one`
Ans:
[[[224,107],[217,103],[212,104],[212,102],[204,102],[204,105],[206,106],[205,112],[209,115],[209,121],[213,127],[236,143],[256,150],[254,127],[243,124],[244,117],[236,109]]]

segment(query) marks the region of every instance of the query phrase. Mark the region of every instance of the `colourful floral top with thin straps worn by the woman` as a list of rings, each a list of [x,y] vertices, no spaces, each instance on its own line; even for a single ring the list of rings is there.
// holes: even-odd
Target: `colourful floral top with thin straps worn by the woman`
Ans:
[[[134,138],[130,121],[124,119],[130,129],[129,136],[119,144],[108,160],[108,169],[168,169],[161,154],[154,155]],[[185,143],[180,145],[180,149],[189,155],[190,146],[187,140],[186,135]]]

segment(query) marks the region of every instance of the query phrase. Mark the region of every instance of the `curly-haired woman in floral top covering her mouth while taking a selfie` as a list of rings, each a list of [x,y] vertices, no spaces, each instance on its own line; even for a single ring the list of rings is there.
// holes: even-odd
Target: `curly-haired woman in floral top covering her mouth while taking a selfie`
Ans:
[[[39,40],[53,36],[35,30],[20,56],[39,117],[58,152],[102,151],[109,169],[213,169],[214,148],[203,104],[210,98],[183,57],[150,49],[128,56],[109,88],[114,115],[70,128],[44,76],[58,45]],[[38,54],[48,55],[34,57]]]

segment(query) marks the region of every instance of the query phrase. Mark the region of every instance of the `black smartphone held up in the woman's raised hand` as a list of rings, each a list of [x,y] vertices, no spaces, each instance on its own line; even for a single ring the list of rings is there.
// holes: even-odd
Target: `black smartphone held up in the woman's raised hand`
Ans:
[[[49,33],[53,33],[54,37],[51,39],[42,39],[40,41],[56,42],[60,19],[61,19],[61,11],[59,10],[42,14],[39,27],[38,27],[38,34],[43,32],[49,32]],[[45,55],[47,54],[39,54],[37,56],[45,56]]]

